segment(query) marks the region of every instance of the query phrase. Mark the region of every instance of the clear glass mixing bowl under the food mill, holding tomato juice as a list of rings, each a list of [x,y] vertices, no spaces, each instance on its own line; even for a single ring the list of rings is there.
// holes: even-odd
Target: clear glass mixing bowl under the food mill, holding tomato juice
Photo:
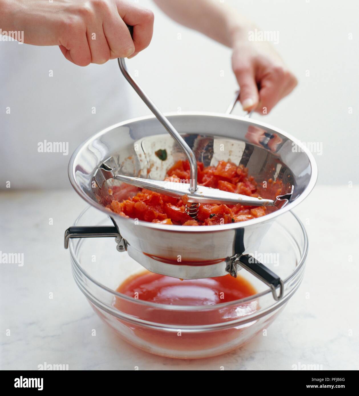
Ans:
[[[74,225],[112,223],[104,213],[89,207]],[[273,223],[258,251],[244,252],[284,280],[281,300],[275,301],[264,283],[242,269],[239,276],[255,287],[255,295],[203,306],[150,303],[116,292],[124,280],[144,268],[126,252],[118,252],[112,238],[71,239],[69,246],[76,284],[122,339],[153,354],[195,359],[238,348],[273,322],[302,281],[308,239],[303,224],[287,212]]]

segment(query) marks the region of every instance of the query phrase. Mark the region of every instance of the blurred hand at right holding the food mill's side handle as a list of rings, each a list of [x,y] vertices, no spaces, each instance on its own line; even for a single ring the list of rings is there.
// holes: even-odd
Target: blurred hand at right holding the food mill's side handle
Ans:
[[[297,85],[281,57],[268,42],[249,41],[244,34],[233,40],[232,68],[243,110],[267,114]]]

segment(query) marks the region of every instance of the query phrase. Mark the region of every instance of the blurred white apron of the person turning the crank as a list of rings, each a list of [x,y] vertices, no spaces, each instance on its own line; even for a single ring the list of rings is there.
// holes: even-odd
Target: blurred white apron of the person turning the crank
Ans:
[[[132,118],[117,60],[76,66],[60,49],[0,42],[0,189],[70,187],[85,139]]]

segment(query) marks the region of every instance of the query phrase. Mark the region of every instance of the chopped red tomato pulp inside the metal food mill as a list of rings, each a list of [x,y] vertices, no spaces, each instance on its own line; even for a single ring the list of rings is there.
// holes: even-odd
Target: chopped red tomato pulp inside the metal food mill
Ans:
[[[248,176],[243,166],[220,161],[217,166],[204,168],[197,162],[199,185],[218,188],[253,197],[257,186],[254,178]],[[167,171],[171,181],[187,182],[190,179],[188,161],[178,161]],[[167,180],[167,179],[166,179]],[[265,207],[237,205],[200,204],[197,220],[185,213],[187,196],[181,199],[172,198],[158,192],[142,189],[134,197],[118,202],[113,200],[106,208],[124,217],[137,218],[152,223],[176,225],[215,225],[237,223],[265,215]]]

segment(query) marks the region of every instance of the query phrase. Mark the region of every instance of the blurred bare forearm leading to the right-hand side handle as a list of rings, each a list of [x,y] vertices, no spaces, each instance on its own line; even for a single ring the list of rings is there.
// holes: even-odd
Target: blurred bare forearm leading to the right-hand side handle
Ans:
[[[154,0],[174,21],[233,47],[238,37],[247,38],[254,24],[224,3],[213,0]]]

